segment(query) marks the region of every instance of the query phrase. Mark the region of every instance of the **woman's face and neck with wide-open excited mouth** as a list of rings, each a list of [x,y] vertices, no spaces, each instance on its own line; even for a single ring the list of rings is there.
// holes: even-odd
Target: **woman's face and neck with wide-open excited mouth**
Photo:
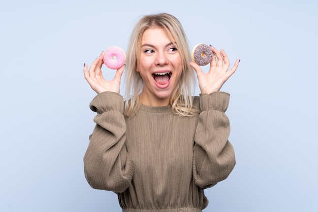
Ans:
[[[182,73],[182,60],[165,29],[150,27],[141,38],[137,64],[144,89],[141,102],[149,106],[165,106]]]

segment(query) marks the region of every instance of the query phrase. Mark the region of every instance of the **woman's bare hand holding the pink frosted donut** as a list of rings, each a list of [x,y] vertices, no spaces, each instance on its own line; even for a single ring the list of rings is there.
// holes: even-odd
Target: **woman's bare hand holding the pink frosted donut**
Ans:
[[[102,93],[105,91],[111,91],[115,93],[119,93],[120,91],[120,80],[123,73],[123,69],[125,65],[121,66],[117,69],[115,73],[115,77],[111,81],[106,81],[103,77],[102,73],[102,65],[104,63],[104,51],[101,53],[100,56],[94,60],[93,64],[89,67],[87,72],[87,64],[84,65],[84,77],[90,87],[96,91],[96,93]]]

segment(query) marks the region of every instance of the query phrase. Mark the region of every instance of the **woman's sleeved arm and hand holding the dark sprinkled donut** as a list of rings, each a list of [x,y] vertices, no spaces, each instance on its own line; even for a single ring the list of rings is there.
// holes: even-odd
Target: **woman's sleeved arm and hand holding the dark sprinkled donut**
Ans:
[[[217,51],[213,46],[211,50],[213,56],[208,73],[203,73],[198,64],[190,62],[197,73],[201,90],[193,170],[195,182],[201,188],[226,179],[235,165],[234,150],[228,141],[230,122],[225,115],[230,95],[219,90],[235,73],[240,60],[236,60],[229,69],[230,61],[225,51]]]

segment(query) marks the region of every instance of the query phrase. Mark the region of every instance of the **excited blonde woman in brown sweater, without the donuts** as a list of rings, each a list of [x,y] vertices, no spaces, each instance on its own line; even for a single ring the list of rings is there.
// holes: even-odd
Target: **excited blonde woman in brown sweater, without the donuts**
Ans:
[[[235,165],[221,86],[229,69],[224,50],[211,47],[208,73],[191,61],[179,21],[161,13],[140,19],[127,50],[126,66],[105,81],[104,52],[84,76],[98,95],[90,109],[96,127],[84,156],[91,187],[116,192],[125,212],[202,211],[204,189],[227,178]],[[119,94],[125,68],[126,96]],[[191,96],[195,73],[200,96]]]

